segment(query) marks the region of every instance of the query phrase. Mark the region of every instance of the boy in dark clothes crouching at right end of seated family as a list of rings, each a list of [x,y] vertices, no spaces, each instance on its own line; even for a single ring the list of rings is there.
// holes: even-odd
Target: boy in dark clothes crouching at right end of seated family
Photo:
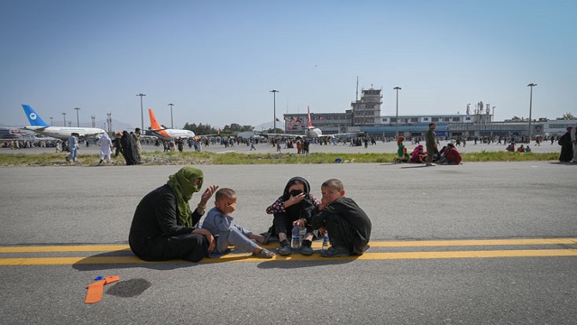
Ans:
[[[331,179],[321,185],[323,199],[313,216],[313,227],[328,231],[331,246],[325,257],[362,255],[371,238],[371,219],[353,199],[344,197],[343,182]]]

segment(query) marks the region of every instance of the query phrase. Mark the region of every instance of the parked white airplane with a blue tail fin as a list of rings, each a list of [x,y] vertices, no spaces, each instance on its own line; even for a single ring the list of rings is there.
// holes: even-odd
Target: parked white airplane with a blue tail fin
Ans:
[[[36,114],[34,109],[29,105],[23,104],[24,113],[28,117],[30,126],[24,126],[26,130],[34,131],[39,135],[51,136],[61,140],[67,140],[70,135],[77,133],[80,136],[96,136],[105,134],[105,130],[96,127],[67,127],[67,126],[50,126]]]

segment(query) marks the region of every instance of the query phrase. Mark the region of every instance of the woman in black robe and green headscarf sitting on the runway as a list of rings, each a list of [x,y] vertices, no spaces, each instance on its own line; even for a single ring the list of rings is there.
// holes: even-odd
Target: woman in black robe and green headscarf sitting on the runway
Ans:
[[[190,212],[188,200],[202,187],[203,173],[183,167],[167,184],[148,193],[136,207],[128,242],[134,255],[145,261],[184,259],[198,262],[215,246],[206,229],[197,229],[206,202],[218,188],[208,187]]]

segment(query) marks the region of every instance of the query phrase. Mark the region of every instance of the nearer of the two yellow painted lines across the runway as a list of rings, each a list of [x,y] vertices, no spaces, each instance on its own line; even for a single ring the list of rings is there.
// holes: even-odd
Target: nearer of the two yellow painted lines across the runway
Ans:
[[[365,253],[361,256],[325,258],[321,255],[276,255],[271,259],[252,255],[230,254],[220,258],[205,258],[201,263],[217,262],[269,262],[269,261],[333,261],[333,260],[391,260],[391,259],[443,259],[443,258],[495,258],[495,257],[552,257],[577,256],[577,249],[528,249],[494,251],[444,251],[444,252],[395,252]],[[102,265],[102,264],[187,264],[181,260],[145,262],[136,256],[88,256],[88,257],[23,257],[0,258],[0,265]]]

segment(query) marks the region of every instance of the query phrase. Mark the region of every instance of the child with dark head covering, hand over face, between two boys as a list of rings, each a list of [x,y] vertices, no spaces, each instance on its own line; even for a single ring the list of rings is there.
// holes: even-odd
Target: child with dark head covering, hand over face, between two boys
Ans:
[[[268,214],[274,216],[269,233],[279,237],[279,255],[292,254],[292,248],[287,239],[287,231],[292,229],[295,221],[298,223],[298,227],[307,228],[307,235],[298,251],[302,255],[313,254],[311,245],[314,236],[310,218],[320,203],[310,193],[310,185],[307,180],[302,177],[293,177],[285,186],[282,196],[266,209]]]

